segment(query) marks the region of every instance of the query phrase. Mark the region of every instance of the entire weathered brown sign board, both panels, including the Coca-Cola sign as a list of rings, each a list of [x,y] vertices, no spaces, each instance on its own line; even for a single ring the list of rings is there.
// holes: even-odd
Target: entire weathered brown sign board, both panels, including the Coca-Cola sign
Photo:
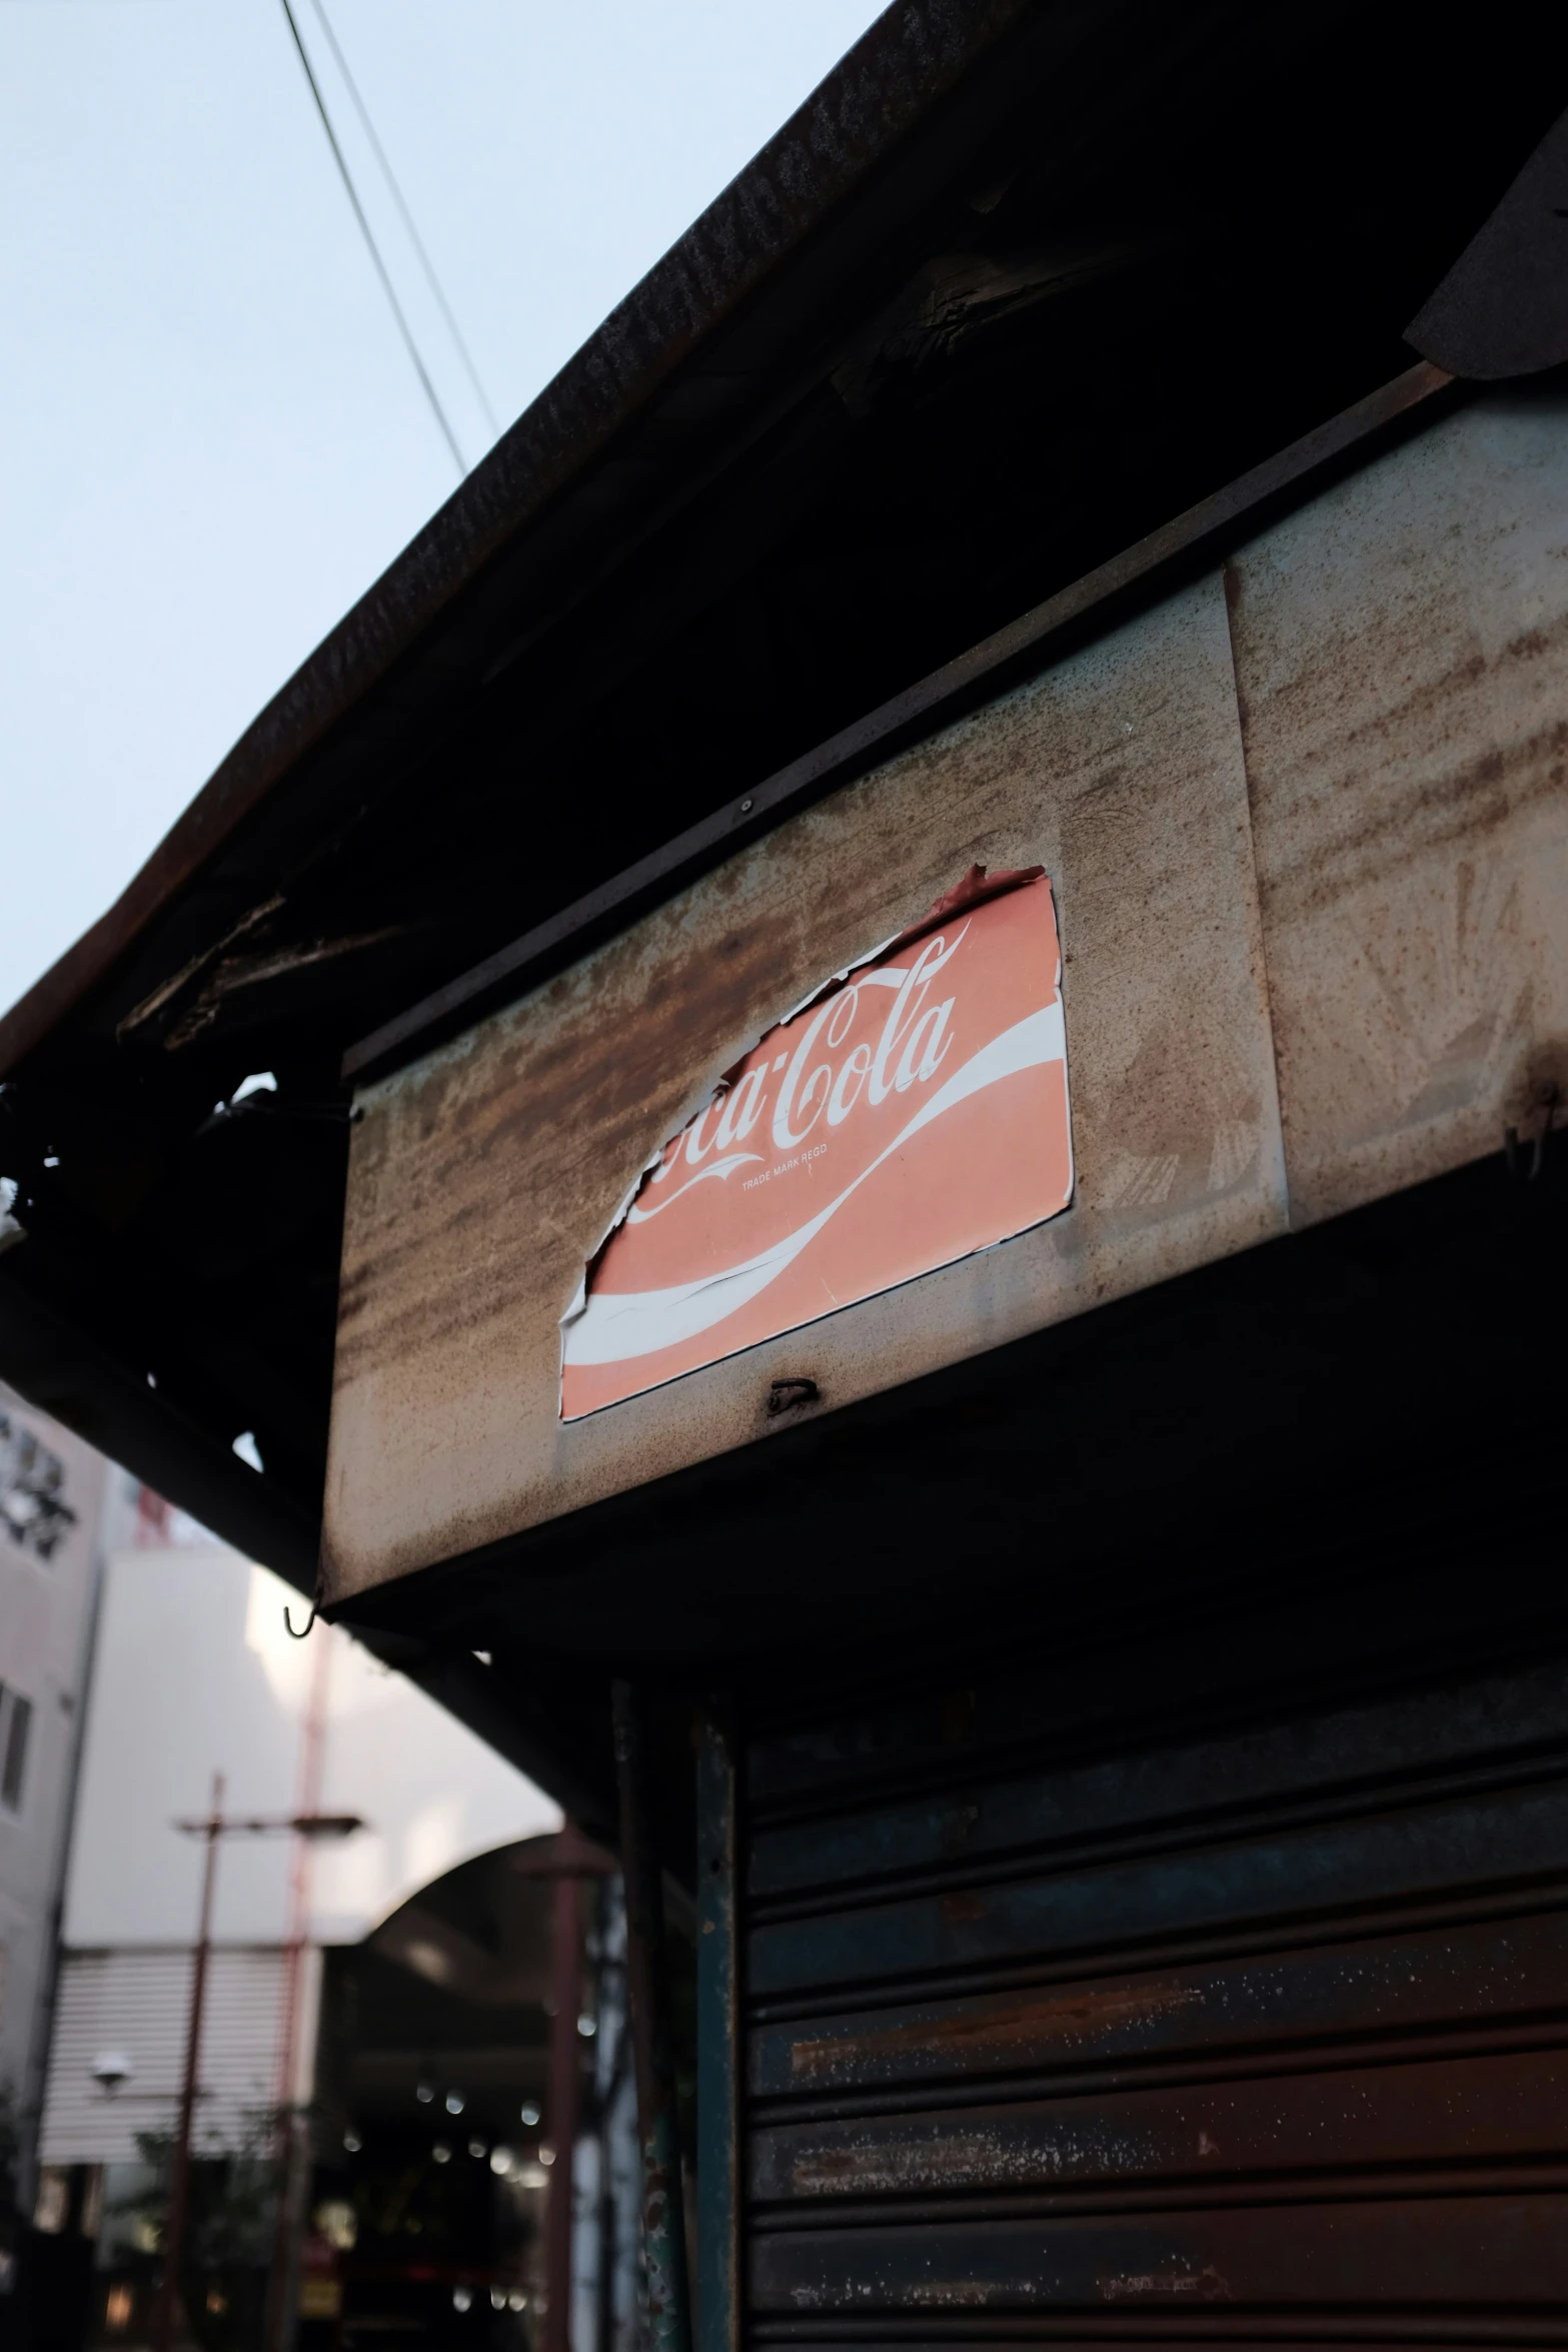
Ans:
[[[1528,1134],[1566,689],[1563,400],[1488,397],[367,1087],[327,1597]],[[976,866],[1048,880],[877,953]]]

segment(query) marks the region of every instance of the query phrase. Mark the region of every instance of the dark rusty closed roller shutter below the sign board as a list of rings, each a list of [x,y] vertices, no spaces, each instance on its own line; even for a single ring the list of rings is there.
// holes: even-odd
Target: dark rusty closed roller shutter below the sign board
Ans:
[[[752,1740],[750,2340],[1561,2343],[1563,1663],[1051,1698]]]

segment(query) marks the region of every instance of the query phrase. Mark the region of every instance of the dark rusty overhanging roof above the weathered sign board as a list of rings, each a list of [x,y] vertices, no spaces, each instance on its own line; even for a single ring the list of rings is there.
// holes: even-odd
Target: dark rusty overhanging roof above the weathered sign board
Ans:
[[[907,741],[922,680],[1408,369],[1568,45],[1523,5],[1465,54],[1347,24],[872,26],[0,1021],[7,1378],[313,1581],[346,1058],[581,953],[769,779],[842,781],[867,713]]]

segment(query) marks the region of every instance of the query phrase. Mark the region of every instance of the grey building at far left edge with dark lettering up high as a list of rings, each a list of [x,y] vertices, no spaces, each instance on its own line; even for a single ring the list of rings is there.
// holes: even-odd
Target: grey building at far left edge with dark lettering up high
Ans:
[[[21,2124],[24,2197],[106,1496],[101,1456],[0,1383],[0,2093]]]

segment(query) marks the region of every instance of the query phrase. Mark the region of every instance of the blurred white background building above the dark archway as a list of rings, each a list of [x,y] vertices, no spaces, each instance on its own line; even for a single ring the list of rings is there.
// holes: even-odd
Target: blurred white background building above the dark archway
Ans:
[[[197,2152],[235,2147],[280,2096],[306,2098],[320,1947],[357,1943],[428,1879],[475,1853],[559,1828],[559,1809],[414,1684],[308,1616],[280,1578],[146,1498],[103,1564],[92,1705],[71,1842],[63,1957],[42,2117],[38,2220],[66,2206],[73,2166],[113,2209],[136,2136],[176,2114],[200,1839],[179,1820],[289,1816],[306,1802],[364,1830],[308,1863],[306,1964],[294,2072],[282,2079],[289,1910],[287,1835],[221,1842]],[[306,1773],[306,1780],[301,1778]],[[108,2173],[108,2178],[106,2178]],[[108,2197],[103,2199],[103,2190]]]

